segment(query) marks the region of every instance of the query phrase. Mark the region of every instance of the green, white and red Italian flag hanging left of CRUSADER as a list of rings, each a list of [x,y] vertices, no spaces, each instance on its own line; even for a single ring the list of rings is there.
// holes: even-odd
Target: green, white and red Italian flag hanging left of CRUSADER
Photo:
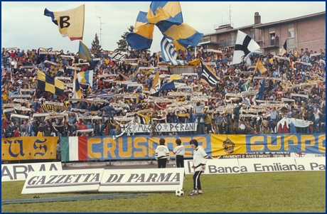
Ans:
[[[61,161],[87,161],[87,137],[61,137]]]

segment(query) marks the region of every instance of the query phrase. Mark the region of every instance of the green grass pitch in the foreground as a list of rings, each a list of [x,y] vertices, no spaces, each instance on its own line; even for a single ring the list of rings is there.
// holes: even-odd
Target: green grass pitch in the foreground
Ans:
[[[1,199],[33,198],[21,195],[24,181],[2,182]],[[203,195],[187,196],[193,178],[186,175],[184,193],[149,193],[139,198],[1,205],[5,213],[326,213],[326,172],[240,173],[201,175]],[[94,195],[95,193],[90,193]],[[100,194],[100,193],[99,193]],[[103,194],[103,193],[101,193]],[[108,193],[110,194],[110,193]],[[81,193],[40,194],[40,198],[81,196]]]

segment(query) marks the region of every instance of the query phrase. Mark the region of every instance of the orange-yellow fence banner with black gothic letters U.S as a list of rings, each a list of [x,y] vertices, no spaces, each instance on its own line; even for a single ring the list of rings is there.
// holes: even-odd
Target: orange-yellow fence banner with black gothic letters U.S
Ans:
[[[14,137],[1,139],[1,160],[55,159],[58,137]]]

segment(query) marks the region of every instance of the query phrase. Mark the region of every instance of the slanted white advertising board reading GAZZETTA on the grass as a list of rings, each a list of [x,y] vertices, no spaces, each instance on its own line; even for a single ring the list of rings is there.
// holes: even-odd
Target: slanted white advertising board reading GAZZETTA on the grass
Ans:
[[[30,172],[22,194],[98,191],[104,168]]]

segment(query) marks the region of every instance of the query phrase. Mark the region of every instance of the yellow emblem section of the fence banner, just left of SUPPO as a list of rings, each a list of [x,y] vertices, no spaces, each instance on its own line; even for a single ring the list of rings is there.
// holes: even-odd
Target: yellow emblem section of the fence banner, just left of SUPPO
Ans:
[[[247,152],[245,134],[212,134],[212,156],[243,154]]]

